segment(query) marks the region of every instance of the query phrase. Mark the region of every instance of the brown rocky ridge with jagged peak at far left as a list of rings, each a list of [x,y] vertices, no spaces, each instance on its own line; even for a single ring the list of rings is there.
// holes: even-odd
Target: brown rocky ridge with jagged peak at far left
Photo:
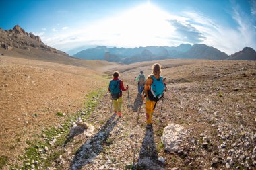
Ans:
[[[75,65],[91,69],[95,68],[95,64],[92,63],[97,63],[99,66],[108,65],[106,61],[91,62],[69,56],[65,52],[47,46],[41,41],[39,36],[26,32],[18,25],[14,26],[11,30],[2,30],[0,28],[0,55]]]

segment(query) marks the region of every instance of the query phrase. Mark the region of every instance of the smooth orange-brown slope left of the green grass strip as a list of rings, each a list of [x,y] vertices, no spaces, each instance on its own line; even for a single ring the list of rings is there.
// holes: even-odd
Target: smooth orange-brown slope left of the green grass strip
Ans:
[[[73,116],[86,95],[102,88],[106,79],[90,69],[0,56],[0,169],[5,157],[20,163],[30,141]]]

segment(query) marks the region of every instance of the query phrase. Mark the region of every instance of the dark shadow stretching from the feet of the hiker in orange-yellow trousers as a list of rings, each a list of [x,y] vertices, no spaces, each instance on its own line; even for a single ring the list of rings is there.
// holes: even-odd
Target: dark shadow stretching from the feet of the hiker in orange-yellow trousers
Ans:
[[[164,169],[158,161],[158,151],[154,142],[153,128],[146,129],[141,150],[139,151],[138,167],[142,169]]]

